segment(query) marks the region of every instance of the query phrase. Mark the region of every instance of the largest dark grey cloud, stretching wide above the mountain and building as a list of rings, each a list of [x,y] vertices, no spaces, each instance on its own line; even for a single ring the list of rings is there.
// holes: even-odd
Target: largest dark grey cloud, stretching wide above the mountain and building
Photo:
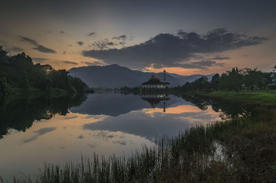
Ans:
[[[212,30],[206,35],[179,30],[177,35],[159,34],[142,44],[126,48],[83,50],[82,55],[101,59],[108,64],[120,64],[132,68],[144,68],[152,64],[155,68],[184,67],[184,64],[197,53],[235,50],[244,46],[262,44],[266,40],[265,37],[250,37],[228,32],[224,28]]]

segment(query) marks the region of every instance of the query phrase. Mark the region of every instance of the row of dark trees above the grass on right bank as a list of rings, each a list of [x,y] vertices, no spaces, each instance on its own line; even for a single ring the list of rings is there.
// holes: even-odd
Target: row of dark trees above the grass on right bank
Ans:
[[[233,68],[222,75],[213,75],[210,81],[203,76],[193,82],[187,82],[181,86],[181,90],[275,90],[275,69],[276,66],[273,72],[266,73],[257,68]]]

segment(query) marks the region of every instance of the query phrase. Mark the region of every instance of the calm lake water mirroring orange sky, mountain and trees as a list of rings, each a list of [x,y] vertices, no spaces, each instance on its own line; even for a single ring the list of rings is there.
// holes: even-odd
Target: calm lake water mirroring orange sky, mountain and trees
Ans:
[[[81,155],[128,155],[161,135],[248,110],[195,96],[94,93],[82,99],[43,99],[0,110],[0,175],[39,173],[44,162],[76,162]]]

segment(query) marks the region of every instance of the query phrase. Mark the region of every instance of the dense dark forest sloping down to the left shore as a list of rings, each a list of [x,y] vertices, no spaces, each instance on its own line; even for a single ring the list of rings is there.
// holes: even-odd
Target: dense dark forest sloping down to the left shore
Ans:
[[[66,70],[55,70],[46,64],[34,64],[24,52],[8,54],[0,46],[0,99],[23,97],[60,97],[77,95],[89,90],[78,77]]]

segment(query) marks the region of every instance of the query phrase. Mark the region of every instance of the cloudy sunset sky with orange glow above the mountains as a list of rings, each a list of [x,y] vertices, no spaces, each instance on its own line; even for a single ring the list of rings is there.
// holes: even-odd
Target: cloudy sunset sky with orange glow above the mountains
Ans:
[[[0,45],[56,69],[119,64],[179,75],[276,65],[276,1],[14,1]]]

